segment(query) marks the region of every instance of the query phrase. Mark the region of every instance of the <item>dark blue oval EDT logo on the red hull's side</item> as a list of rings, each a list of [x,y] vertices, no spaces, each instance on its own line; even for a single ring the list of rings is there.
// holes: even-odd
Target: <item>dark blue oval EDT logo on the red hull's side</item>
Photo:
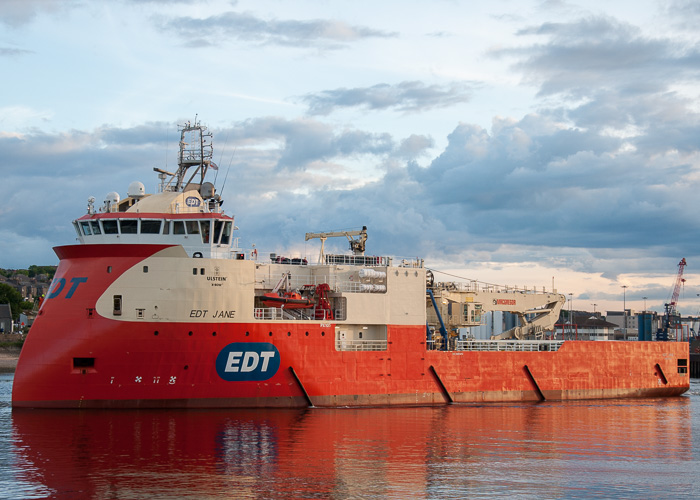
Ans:
[[[267,380],[280,367],[280,353],[267,342],[234,342],[216,357],[216,373],[229,382]]]

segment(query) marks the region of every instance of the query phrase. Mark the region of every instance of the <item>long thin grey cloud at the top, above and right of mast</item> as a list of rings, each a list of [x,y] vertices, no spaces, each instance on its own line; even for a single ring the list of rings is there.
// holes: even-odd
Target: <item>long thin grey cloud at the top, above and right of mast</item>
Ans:
[[[222,39],[242,40],[255,44],[272,44],[291,47],[320,45],[339,48],[347,43],[365,38],[395,36],[363,26],[351,26],[342,21],[314,20],[266,20],[247,13],[225,12],[206,18],[176,17],[162,22],[162,29],[175,32],[190,44],[218,45]]]

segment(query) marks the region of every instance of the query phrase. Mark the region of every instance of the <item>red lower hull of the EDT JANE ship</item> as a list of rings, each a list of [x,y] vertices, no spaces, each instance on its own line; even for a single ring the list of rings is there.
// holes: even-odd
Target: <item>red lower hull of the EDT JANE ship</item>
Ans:
[[[388,325],[387,350],[338,351],[332,323],[125,322],[94,313],[107,286],[163,248],[57,249],[55,283],[63,278],[65,286],[56,293],[54,285],[27,337],[13,406],[429,405],[675,396],[689,386],[679,361],[687,367],[684,343],[571,341],[556,352],[441,352],[426,350],[425,326]],[[76,272],[81,278],[70,278]],[[226,352],[231,345],[274,349],[274,374],[226,380],[221,366],[245,371],[246,361],[235,357],[241,353]]]

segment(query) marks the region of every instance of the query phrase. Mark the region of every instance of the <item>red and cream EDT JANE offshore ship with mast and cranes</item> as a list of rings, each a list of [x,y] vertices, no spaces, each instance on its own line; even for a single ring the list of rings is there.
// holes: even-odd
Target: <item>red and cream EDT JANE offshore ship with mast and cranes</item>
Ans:
[[[211,134],[182,128],[158,193],[132,183],[73,225],[25,341],[14,407],[428,405],[677,396],[688,345],[547,340],[564,296],[434,283],[422,260],[365,256],[366,231],[308,233],[318,264],[238,248],[213,184]],[[352,255],[324,255],[347,236]],[[353,236],[357,236],[354,239]],[[493,340],[459,328],[491,310]]]

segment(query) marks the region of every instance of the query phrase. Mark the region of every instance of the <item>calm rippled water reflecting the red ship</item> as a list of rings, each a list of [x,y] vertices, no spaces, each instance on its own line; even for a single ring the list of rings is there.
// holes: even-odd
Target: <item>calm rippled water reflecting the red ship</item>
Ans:
[[[692,498],[700,383],[674,399],[306,411],[12,411],[2,498]]]

